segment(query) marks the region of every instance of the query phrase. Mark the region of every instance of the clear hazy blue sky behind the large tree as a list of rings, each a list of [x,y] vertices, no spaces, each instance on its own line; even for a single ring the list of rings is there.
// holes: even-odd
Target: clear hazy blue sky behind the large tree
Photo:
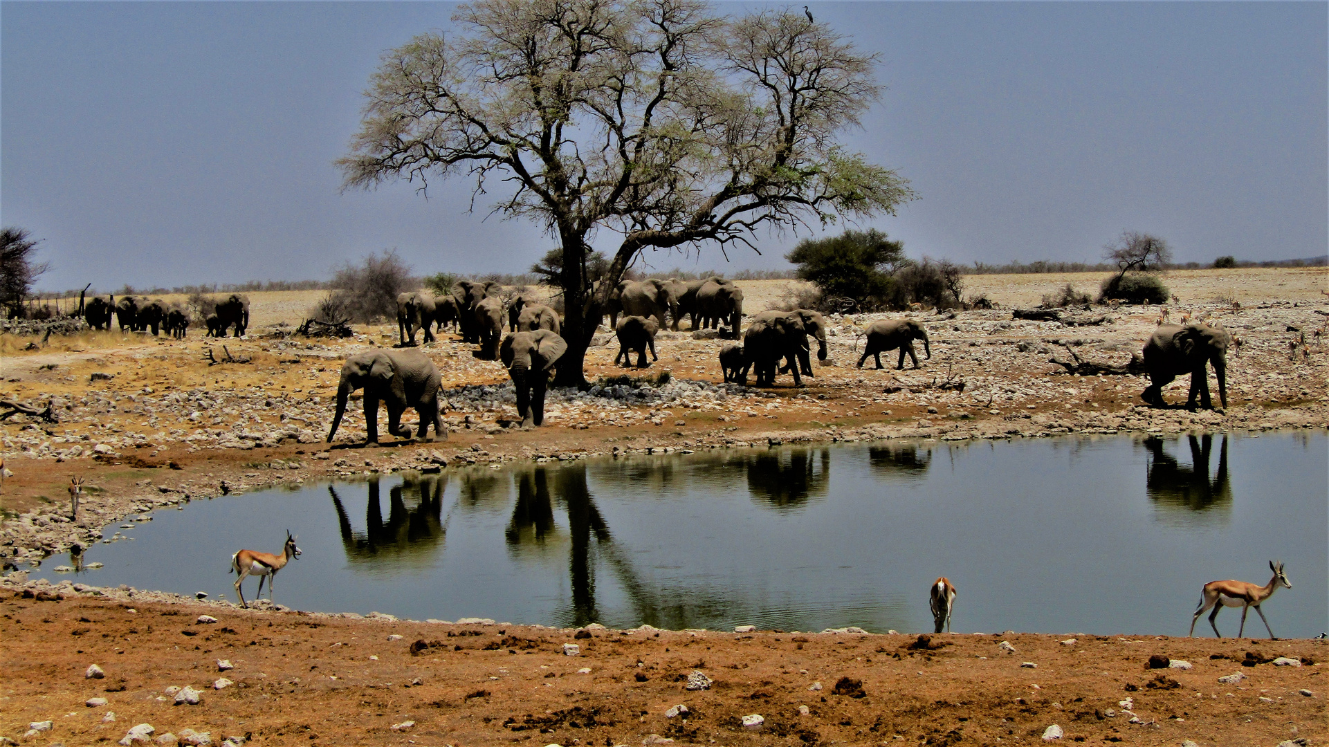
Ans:
[[[913,257],[1094,262],[1127,229],[1181,262],[1326,253],[1329,4],[811,5],[881,54],[845,141],[918,191],[864,225]],[[524,271],[553,239],[469,214],[468,182],[342,193],[332,166],[379,56],[455,7],[0,3],[0,221],[44,239],[52,290],[323,279],[385,249]],[[799,238],[647,259],[777,268]]]

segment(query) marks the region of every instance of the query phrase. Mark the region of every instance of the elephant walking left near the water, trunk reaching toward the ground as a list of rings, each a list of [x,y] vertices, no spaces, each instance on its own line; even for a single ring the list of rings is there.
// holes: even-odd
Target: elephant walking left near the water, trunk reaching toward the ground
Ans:
[[[328,443],[336,436],[336,428],[346,415],[346,401],[351,392],[364,388],[364,427],[368,431],[368,444],[379,443],[379,400],[388,405],[388,433],[399,439],[409,439],[411,429],[401,425],[401,413],[413,407],[420,413],[420,429],[416,437],[425,439],[429,425],[433,425],[439,440],[448,439],[439,411],[439,368],[429,356],[417,350],[371,350],[352,355],[342,366],[342,381],[336,389],[336,413],[332,416],[332,429]]]

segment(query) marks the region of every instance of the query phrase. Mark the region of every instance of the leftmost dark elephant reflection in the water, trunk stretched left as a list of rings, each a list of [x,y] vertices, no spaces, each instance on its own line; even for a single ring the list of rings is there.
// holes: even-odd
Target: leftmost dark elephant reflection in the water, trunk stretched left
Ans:
[[[433,550],[441,549],[447,534],[447,526],[440,517],[445,486],[445,479],[425,476],[419,482],[412,481],[389,488],[388,516],[384,518],[379,480],[377,477],[371,479],[364,517],[365,530],[356,532],[351,526],[351,520],[336,488],[328,485],[347,558],[352,562],[384,557],[424,560]]]

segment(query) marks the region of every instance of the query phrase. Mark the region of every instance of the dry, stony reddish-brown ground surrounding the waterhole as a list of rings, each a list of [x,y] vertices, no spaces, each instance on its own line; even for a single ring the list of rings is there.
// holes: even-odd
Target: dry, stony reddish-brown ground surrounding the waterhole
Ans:
[[[299,322],[312,298],[253,294],[255,323],[241,340],[85,334],[52,338],[28,351],[23,348],[29,342],[41,340],[0,336],[0,399],[49,404],[57,420],[17,415],[0,423],[5,467],[13,473],[0,494],[0,562],[20,572],[44,560],[56,562],[51,556],[97,541],[102,526],[155,506],[364,471],[766,448],[780,441],[1329,425],[1329,351],[1316,334],[1325,331],[1329,318],[1324,268],[1168,275],[1180,296],[1180,304],[1171,304],[1174,315],[1203,315],[1243,340],[1240,352],[1228,356],[1229,407],[1221,412],[1146,408],[1139,401],[1142,377],[1073,376],[1049,362],[1070,359],[1075,351],[1087,360],[1124,364],[1154,330],[1159,307],[1096,307],[1084,314],[1110,322],[1087,327],[1011,319],[1010,307],[1034,306],[1067,282],[1087,291],[1098,280],[1098,275],[969,278],[973,295],[986,295],[1001,308],[916,314],[932,335],[932,359],[921,360],[917,371],[896,371],[893,354],[882,360],[885,370],[873,370],[870,360],[855,368],[861,346],[856,331],[877,316],[833,318],[833,364],[817,367],[804,388],[795,388],[787,376],[772,389],[723,385],[715,356],[724,340],[694,339],[687,331],[662,334],[659,360],[645,371],[614,367],[617,344],[595,347],[587,356],[589,379],[623,374],[633,379],[605,381],[591,392],[553,393],[546,425],[534,431],[504,427],[514,408],[501,366],[474,359],[472,346],[445,335],[423,350],[444,374],[449,439],[384,448],[360,445],[364,424],[354,412],[336,444],[330,448],[324,436],[340,360],[392,344],[395,326],[359,328],[347,340],[304,340],[290,327],[268,326]],[[781,302],[797,283],[743,284],[746,311],[754,314]],[[258,319],[267,322],[260,326]],[[1293,351],[1289,344],[1302,335],[1308,344]],[[214,359],[229,351],[249,362],[211,366],[205,359],[209,350]],[[662,371],[671,375],[663,385]],[[109,377],[93,380],[93,374]],[[1180,403],[1185,385],[1176,381],[1164,396]],[[76,520],[68,516],[72,476],[89,484]],[[1318,740],[1326,731],[1318,666],[1247,669],[1237,661],[1248,650],[1318,661],[1325,655],[1322,642],[1128,642],[1078,635],[1078,646],[1062,646],[1058,641],[1067,637],[1010,634],[942,637],[953,645],[921,653],[902,650],[914,642],[902,635],[804,634],[807,641],[795,641],[787,633],[684,631],[657,638],[655,631],[597,630],[590,639],[574,639],[573,631],[512,625],[181,606],[179,599],[155,593],[78,591],[68,584],[52,590],[20,578],[11,576],[0,586],[0,597],[12,595],[3,601],[7,617],[0,621],[0,735],[20,738],[29,722],[54,719],[53,731],[33,735],[39,744],[118,740],[140,722],[153,723],[158,735],[189,727],[210,731],[214,743],[251,734],[272,744],[639,744],[650,734],[720,744],[894,743],[896,735],[909,743],[994,743],[1038,740],[1051,723],[1065,730],[1066,739],[1095,743],[1275,744],[1297,736]],[[54,591],[65,599],[29,599],[23,591],[47,597]],[[203,613],[221,622],[194,625]],[[462,630],[481,634],[457,637]],[[388,641],[391,634],[404,638]],[[505,643],[508,637],[536,643]],[[421,638],[445,646],[412,657],[408,645]],[[1017,654],[999,654],[1001,639],[1010,641]],[[496,642],[497,649],[484,650]],[[563,657],[563,642],[583,645],[582,655]],[[1195,669],[1147,671],[1151,654],[1187,659]],[[207,690],[201,706],[157,699],[167,686],[202,689],[222,677],[217,658],[237,665],[230,677],[235,686]],[[1038,669],[1022,669],[1025,661]],[[90,663],[102,666],[106,679],[85,681]],[[591,671],[577,674],[582,667]],[[676,678],[694,669],[706,671],[715,686],[684,691]],[[1217,677],[1235,671],[1249,678],[1235,686],[1217,683]],[[1170,682],[1148,687],[1159,682],[1158,674],[1179,687]],[[860,679],[867,696],[832,694],[841,677]],[[421,685],[408,686],[415,679]],[[824,690],[809,691],[815,681]],[[124,690],[104,693],[120,685]],[[1128,685],[1138,690],[1126,691]],[[1301,689],[1313,695],[1298,695]],[[474,695],[481,690],[488,694]],[[93,696],[108,698],[109,704],[85,707]],[[1144,724],[1107,715],[1108,708],[1120,714],[1126,696],[1135,700],[1132,710]],[[678,703],[692,710],[686,723],[664,718],[663,711]],[[808,715],[799,714],[800,704],[808,706]],[[116,722],[102,723],[108,710],[116,711]],[[748,714],[766,716],[766,726],[744,730],[740,718]],[[389,728],[405,720],[415,726]],[[516,728],[528,726],[533,728]]]

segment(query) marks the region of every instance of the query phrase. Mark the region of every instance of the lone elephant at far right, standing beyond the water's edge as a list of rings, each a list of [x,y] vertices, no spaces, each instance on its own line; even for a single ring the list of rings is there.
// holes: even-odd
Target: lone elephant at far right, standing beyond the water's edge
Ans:
[[[1209,399],[1209,376],[1205,366],[1213,364],[1213,375],[1219,379],[1219,401],[1228,407],[1228,332],[1221,327],[1208,324],[1163,324],[1154,330],[1150,342],[1144,344],[1144,370],[1150,375],[1150,385],[1140,399],[1154,407],[1166,407],[1163,387],[1172,379],[1189,374],[1191,392],[1187,395],[1187,409],[1195,409],[1195,396],[1200,395],[1200,407],[1213,409]]]

